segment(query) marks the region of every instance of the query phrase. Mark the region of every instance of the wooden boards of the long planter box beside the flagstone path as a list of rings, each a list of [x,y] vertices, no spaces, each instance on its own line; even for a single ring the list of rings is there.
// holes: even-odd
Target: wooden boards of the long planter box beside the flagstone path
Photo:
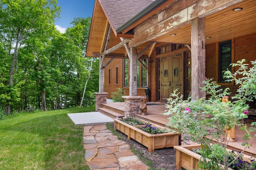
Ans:
[[[150,134],[137,127],[145,125],[132,126],[118,119],[114,119],[114,128],[127,135],[128,140],[131,138],[143,144],[148,148],[148,152],[154,152],[155,149],[169,148],[179,145],[179,133],[168,132],[162,134]],[[160,127],[154,125],[155,127]],[[163,127],[162,127],[163,128]]]

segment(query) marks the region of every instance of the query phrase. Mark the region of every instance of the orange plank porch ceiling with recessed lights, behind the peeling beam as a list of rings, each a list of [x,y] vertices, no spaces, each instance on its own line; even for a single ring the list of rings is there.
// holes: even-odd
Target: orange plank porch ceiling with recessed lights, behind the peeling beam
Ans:
[[[243,8],[233,11],[234,8]],[[230,38],[239,37],[256,32],[256,2],[246,0],[223,10],[220,10],[205,19],[206,44],[221,42]],[[176,34],[176,36],[170,36]],[[191,25],[188,24],[164,36],[155,38],[154,42],[191,43]]]

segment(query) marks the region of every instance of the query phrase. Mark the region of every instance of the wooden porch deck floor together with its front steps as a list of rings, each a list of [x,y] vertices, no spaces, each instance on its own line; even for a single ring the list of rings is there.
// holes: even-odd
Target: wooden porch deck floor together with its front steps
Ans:
[[[162,115],[162,113],[167,112],[166,104],[164,103],[158,103],[158,102],[148,102],[147,103],[147,114],[146,116],[140,115],[140,114],[134,114],[132,116],[138,117],[140,119],[143,119],[145,121],[148,121],[150,123],[154,123],[161,126],[166,126],[168,124],[168,117]],[[125,104],[124,102],[111,102],[111,103],[105,103],[102,104],[101,108],[98,108],[98,111],[109,116],[112,118],[118,117],[118,116],[124,116],[124,109]],[[250,123],[252,121],[255,121],[255,116],[249,116],[248,119],[246,119],[246,125],[247,127],[250,127]],[[236,142],[229,142],[228,143],[228,149],[234,149],[234,150],[243,150],[242,143],[246,142],[246,140],[243,140],[244,131],[240,130],[240,127],[236,127]],[[182,141],[184,143],[190,142],[190,141]],[[244,154],[247,154],[249,156],[256,156],[256,138],[252,141],[252,147],[247,148],[244,152]],[[190,143],[191,144],[191,143]]]

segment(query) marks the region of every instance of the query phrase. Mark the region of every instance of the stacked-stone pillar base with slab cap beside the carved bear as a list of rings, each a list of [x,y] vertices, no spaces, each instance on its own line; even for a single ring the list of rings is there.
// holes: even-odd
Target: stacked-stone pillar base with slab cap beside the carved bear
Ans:
[[[141,96],[122,96],[124,98],[124,116],[131,116],[138,114],[140,111],[140,98]]]

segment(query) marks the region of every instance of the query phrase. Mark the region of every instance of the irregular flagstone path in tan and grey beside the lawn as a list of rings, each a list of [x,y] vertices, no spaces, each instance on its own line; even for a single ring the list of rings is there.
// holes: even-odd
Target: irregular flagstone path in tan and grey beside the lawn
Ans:
[[[129,144],[118,140],[105,125],[84,127],[86,163],[91,170],[147,170]]]

